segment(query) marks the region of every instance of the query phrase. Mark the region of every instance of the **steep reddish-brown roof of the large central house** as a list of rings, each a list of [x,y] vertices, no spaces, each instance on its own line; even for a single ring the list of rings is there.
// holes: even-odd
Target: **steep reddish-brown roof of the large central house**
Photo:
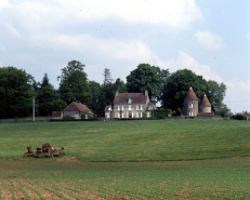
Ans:
[[[143,93],[119,93],[115,96],[114,104],[128,104],[131,98],[131,104],[146,104],[147,96]]]

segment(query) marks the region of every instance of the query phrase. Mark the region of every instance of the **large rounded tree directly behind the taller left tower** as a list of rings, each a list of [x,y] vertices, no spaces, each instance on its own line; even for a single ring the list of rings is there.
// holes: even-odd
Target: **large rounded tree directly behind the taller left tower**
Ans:
[[[166,81],[161,95],[161,105],[163,108],[174,110],[180,115],[184,107],[184,98],[189,88],[193,88],[195,94],[200,99],[206,91],[206,80],[202,76],[197,76],[188,69],[173,72]]]

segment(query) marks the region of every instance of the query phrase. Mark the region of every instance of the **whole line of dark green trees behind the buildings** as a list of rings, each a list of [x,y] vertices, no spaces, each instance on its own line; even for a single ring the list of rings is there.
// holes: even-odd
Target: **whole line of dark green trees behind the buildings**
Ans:
[[[206,80],[192,70],[182,69],[170,74],[149,64],[140,64],[127,76],[127,82],[111,79],[110,70],[105,68],[104,82],[88,80],[84,65],[71,61],[61,69],[57,77],[58,89],[50,83],[44,74],[41,82],[15,67],[0,68],[0,118],[18,118],[32,115],[32,98],[36,98],[36,115],[50,116],[52,111],[63,110],[71,102],[85,104],[95,115],[104,116],[107,105],[111,105],[115,93],[144,92],[148,90],[149,99],[159,102],[161,108],[168,108],[181,115],[184,97],[192,86],[199,101],[206,94],[218,115],[227,115],[229,109],[223,104],[226,85]]]

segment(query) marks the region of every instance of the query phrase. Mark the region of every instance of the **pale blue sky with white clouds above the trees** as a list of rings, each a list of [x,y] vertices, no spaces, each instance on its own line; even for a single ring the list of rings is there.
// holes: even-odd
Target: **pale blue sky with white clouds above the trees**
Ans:
[[[190,69],[227,86],[233,112],[250,111],[248,0],[0,0],[0,67],[50,82],[76,59],[89,80],[139,64]]]

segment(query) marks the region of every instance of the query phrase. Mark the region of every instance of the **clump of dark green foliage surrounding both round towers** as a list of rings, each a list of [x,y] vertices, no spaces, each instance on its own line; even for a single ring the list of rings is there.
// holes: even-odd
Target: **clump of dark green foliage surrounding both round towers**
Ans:
[[[162,107],[175,110],[176,115],[181,115],[184,108],[184,98],[190,86],[199,103],[203,95],[207,95],[213,111],[224,107],[222,102],[225,97],[226,85],[212,80],[207,81],[202,76],[197,76],[188,69],[177,70],[167,79],[161,95]]]

